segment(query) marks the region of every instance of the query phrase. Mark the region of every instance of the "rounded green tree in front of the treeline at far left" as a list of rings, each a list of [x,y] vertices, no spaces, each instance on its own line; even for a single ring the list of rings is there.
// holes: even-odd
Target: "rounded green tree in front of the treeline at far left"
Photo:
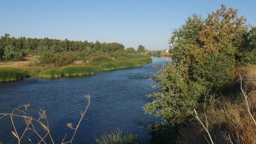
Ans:
[[[23,54],[21,50],[18,50],[15,46],[8,45],[4,48],[4,60],[18,61],[23,60]]]

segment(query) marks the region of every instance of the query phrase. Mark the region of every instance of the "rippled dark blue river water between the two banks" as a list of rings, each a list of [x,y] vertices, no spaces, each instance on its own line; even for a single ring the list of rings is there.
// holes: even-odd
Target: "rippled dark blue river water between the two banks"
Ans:
[[[39,109],[46,110],[50,130],[56,143],[60,143],[65,132],[70,138],[73,130],[67,128],[67,122],[76,126],[87,100],[91,95],[91,105],[83,119],[74,144],[94,144],[105,132],[120,128],[123,133],[136,133],[139,140],[147,142],[151,136],[147,132],[149,124],[159,119],[144,114],[143,106],[151,99],[147,94],[155,92],[149,80],[155,70],[153,65],[161,65],[171,58],[153,58],[153,63],[137,68],[127,68],[99,72],[91,76],[43,80],[26,79],[16,82],[0,82],[0,113],[12,112],[18,106],[29,103],[27,113],[38,118]],[[23,119],[16,119],[18,130],[22,130]],[[0,120],[0,142],[16,143],[10,118]],[[24,136],[36,143],[36,137],[30,132]]]

